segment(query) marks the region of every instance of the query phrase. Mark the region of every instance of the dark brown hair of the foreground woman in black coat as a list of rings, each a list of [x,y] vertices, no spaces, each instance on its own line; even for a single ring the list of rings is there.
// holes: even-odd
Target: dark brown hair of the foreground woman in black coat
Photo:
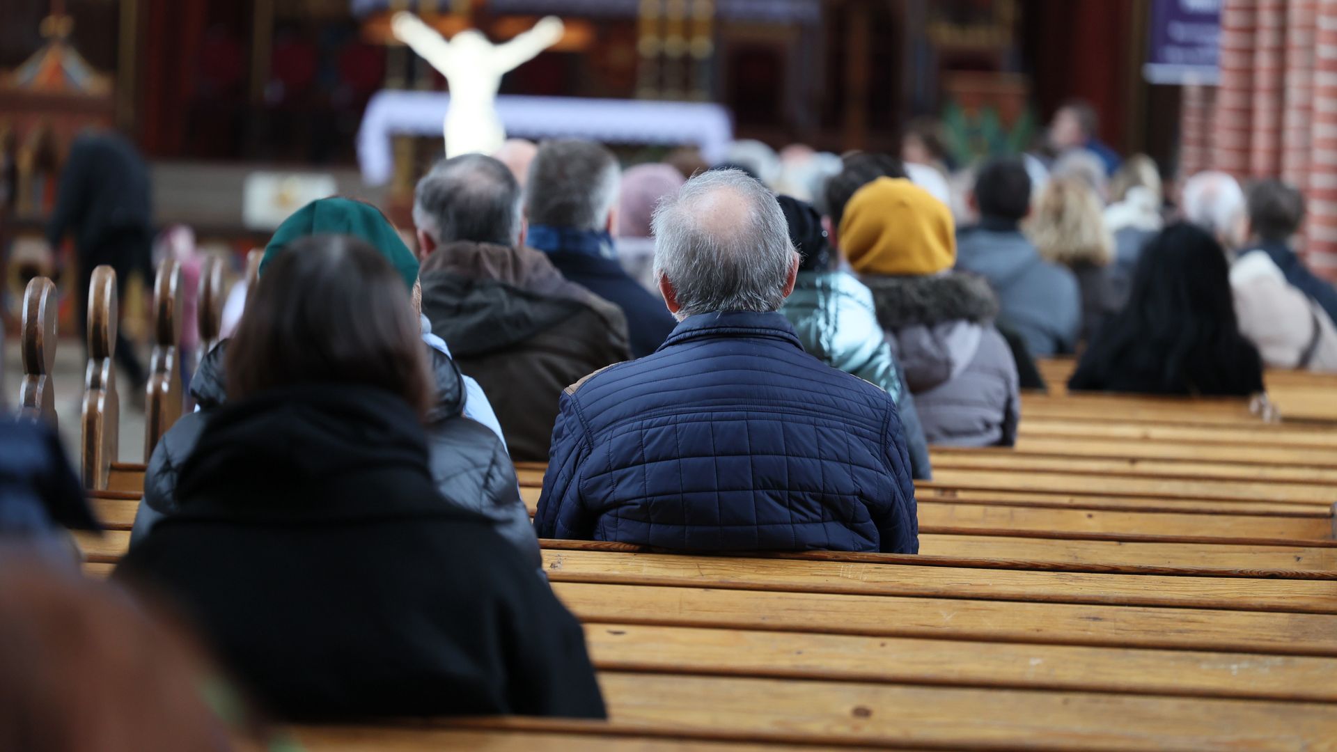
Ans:
[[[432,400],[402,280],[349,236],[309,236],[278,256],[227,348],[231,399],[318,383],[378,387],[420,415]]]

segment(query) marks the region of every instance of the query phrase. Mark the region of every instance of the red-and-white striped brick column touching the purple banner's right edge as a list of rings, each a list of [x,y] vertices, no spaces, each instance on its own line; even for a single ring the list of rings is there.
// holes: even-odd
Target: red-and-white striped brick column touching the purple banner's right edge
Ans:
[[[1258,0],[1226,0],[1221,9],[1221,86],[1213,120],[1213,165],[1238,178],[1250,173],[1254,106],[1254,27]]]

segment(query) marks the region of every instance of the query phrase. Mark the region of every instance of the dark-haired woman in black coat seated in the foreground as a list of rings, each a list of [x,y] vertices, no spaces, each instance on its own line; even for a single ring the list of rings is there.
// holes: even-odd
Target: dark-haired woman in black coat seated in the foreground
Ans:
[[[433,376],[385,258],[346,236],[291,244],[226,373],[178,512],[116,578],[175,601],[283,719],[604,715],[580,625],[437,487]]]

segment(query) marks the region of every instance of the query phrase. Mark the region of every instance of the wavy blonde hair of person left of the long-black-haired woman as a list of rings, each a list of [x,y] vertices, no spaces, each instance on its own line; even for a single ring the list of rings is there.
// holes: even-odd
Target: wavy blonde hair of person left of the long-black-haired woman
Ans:
[[[1024,229],[1047,261],[1066,266],[1114,261],[1114,236],[1106,227],[1100,198],[1082,179],[1051,179]]]

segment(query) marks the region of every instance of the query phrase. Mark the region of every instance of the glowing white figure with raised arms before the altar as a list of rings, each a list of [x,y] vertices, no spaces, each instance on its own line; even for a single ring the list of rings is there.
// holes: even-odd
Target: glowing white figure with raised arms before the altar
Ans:
[[[505,142],[497,116],[501,76],[562,39],[562,19],[547,16],[504,44],[492,44],[477,29],[456,33],[449,41],[421,19],[401,11],[390,20],[394,37],[432,64],[451,84],[445,112],[445,155],[492,154]]]

